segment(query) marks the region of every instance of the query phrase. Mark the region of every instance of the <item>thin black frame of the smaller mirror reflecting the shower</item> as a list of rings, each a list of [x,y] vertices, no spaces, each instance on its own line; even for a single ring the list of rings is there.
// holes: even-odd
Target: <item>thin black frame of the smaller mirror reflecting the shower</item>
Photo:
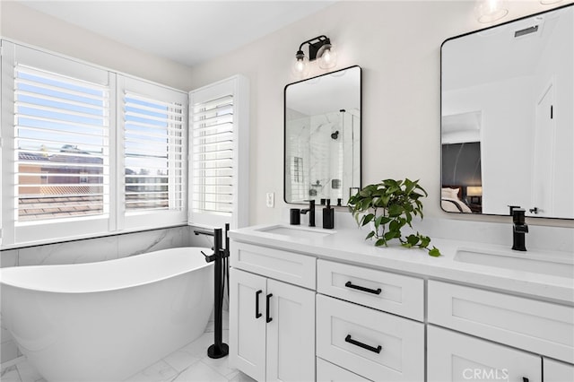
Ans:
[[[361,135],[359,136],[359,149],[360,149],[360,155],[359,155],[359,186],[356,187],[357,191],[361,190],[362,188],[362,68],[360,65],[351,65],[351,66],[347,66],[344,67],[343,69],[338,69],[335,70],[333,72],[329,72],[329,73],[325,73],[325,74],[319,74],[316,75],[314,77],[309,77],[309,78],[305,78],[303,80],[300,81],[296,81],[296,82],[291,82],[285,85],[285,87],[283,88],[283,202],[285,204],[297,204],[297,205],[303,205],[300,203],[293,203],[293,202],[287,202],[287,198],[286,198],[286,193],[287,193],[287,185],[285,183],[285,179],[286,179],[286,163],[285,163],[285,155],[287,153],[287,88],[291,85],[294,85],[296,83],[300,83],[300,82],[305,82],[305,81],[309,81],[309,80],[314,80],[316,78],[319,77],[323,77],[326,75],[331,75],[331,74],[336,74],[338,72],[343,72],[345,70],[348,69],[352,69],[352,68],[358,68],[359,69],[359,105],[360,105],[360,109],[359,109],[359,116],[361,119],[361,126],[359,126],[359,131],[361,132]],[[354,188],[354,187],[353,187]],[[310,197],[309,197],[310,198]],[[347,201],[344,201],[344,205],[338,206],[336,204],[331,204],[332,207],[339,207],[339,208],[346,208],[347,207]],[[317,206],[321,205],[316,203]]]

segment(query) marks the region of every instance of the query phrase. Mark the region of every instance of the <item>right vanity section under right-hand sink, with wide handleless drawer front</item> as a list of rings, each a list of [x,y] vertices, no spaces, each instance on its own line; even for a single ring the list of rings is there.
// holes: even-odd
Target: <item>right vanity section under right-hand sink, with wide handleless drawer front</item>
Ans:
[[[574,380],[572,318],[568,306],[431,280],[428,380]]]

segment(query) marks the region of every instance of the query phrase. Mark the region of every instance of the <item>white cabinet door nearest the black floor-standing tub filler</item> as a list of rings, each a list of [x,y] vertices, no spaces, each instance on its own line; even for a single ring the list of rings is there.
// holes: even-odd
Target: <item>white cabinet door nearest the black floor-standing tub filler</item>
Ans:
[[[265,380],[265,277],[230,269],[230,364]]]

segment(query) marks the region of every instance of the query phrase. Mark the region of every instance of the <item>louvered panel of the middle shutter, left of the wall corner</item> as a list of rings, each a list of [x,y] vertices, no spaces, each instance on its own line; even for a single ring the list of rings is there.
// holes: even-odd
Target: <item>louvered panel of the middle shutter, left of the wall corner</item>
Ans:
[[[184,107],[127,91],[126,211],[184,207]]]

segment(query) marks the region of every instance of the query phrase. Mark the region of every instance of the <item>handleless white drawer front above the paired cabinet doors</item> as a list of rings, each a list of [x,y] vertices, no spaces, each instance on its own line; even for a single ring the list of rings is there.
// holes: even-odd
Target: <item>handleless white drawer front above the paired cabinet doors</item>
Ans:
[[[317,260],[314,256],[233,241],[230,265],[315,290]]]

